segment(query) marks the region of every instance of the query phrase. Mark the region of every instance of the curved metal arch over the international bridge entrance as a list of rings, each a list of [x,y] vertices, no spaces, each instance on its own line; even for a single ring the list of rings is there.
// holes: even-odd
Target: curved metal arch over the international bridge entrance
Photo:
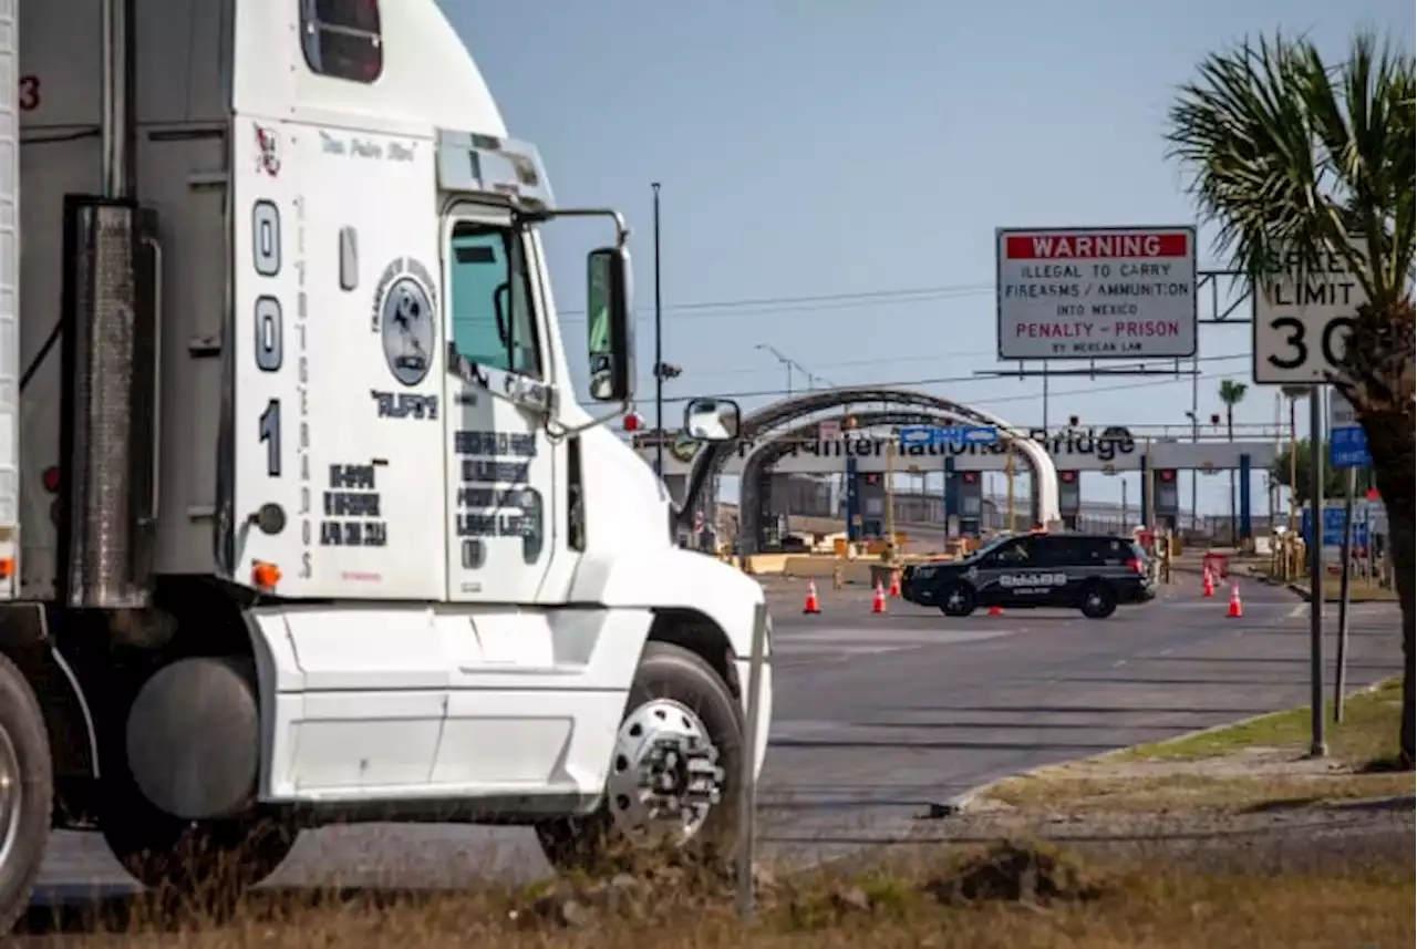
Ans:
[[[992,412],[915,390],[881,387],[819,390],[774,402],[743,419],[741,441],[755,442],[757,446],[744,463],[738,489],[738,534],[754,550],[761,535],[758,496],[761,474],[771,470],[772,465],[789,450],[794,438],[801,439],[815,431],[822,419],[813,416],[853,407],[860,407],[850,414],[856,415],[863,429],[873,425],[937,422],[989,425],[999,429],[1000,438],[1023,456],[1033,473],[1033,521],[1049,524],[1060,520],[1057,467],[1047,450],[1029,438],[1026,429]],[[798,425],[792,425],[794,422]],[[791,428],[782,431],[786,426]],[[694,458],[690,483],[717,483],[717,476],[737,450],[738,446],[728,442],[706,445]]]

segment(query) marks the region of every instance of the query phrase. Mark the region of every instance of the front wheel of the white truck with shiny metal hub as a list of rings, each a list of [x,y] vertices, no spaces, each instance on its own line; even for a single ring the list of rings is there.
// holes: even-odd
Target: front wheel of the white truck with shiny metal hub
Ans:
[[[585,817],[537,826],[547,860],[561,870],[612,871],[657,847],[726,860],[738,836],[743,742],[738,703],[708,663],[680,646],[649,643],[605,799]]]

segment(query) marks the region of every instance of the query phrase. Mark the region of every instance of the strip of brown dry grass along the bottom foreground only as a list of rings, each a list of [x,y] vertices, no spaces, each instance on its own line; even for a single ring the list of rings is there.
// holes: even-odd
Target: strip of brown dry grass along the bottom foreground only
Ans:
[[[479,894],[261,894],[222,919],[174,922],[153,908],[64,921],[67,946],[157,949],[571,949],[1153,946],[1268,949],[1403,945],[1417,880],[1400,868],[1346,865],[1325,875],[1088,865],[1066,851],[999,844],[937,848],[856,875],[819,871],[764,881],[744,931],[721,881],[683,874],[567,881]],[[44,919],[31,919],[43,928]]]

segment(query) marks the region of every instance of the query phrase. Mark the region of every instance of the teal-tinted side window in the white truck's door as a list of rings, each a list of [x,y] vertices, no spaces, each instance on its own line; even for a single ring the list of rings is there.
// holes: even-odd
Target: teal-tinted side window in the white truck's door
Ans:
[[[541,378],[520,235],[512,228],[459,222],[448,254],[452,343],[478,365]]]

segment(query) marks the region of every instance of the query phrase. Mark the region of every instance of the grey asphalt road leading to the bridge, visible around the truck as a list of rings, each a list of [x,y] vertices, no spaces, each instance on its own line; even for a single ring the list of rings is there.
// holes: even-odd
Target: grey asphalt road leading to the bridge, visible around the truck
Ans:
[[[1308,606],[1258,584],[1241,585],[1243,619],[1189,582],[1101,622],[948,619],[900,601],[873,616],[860,588],[822,589],[823,613],[802,616],[801,582],[768,591],[778,691],[761,805],[764,843],[782,854],[898,839],[982,782],[1308,698]],[[1332,636],[1326,650],[1332,663]],[[1396,608],[1355,608],[1349,683],[1394,674],[1400,657]],[[268,885],[461,887],[546,871],[524,830],[381,824],[305,834]],[[96,837],[58,834],[40,899],[128,888]]]

